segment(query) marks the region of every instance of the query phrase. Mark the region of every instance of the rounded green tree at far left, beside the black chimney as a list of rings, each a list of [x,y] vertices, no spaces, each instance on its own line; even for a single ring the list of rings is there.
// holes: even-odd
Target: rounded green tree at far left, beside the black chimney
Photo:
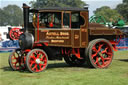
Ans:
[[[23,24],[23,12],[17,5],[0,8],[0,26],[19,26]]]

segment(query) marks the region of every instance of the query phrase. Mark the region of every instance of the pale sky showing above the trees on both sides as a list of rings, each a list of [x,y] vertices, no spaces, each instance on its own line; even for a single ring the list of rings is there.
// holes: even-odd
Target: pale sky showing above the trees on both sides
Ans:
[[[16,4],[20,7],[22,7],[23,3],[26,3],[29,5],[30,1],[35,0],[0,0],[0,8],[3,8],[9,4]],[[89,4],[89,15],[93,15],[93,11],[96,10],[96,8],[100,8],[102,6],[110,6],[111,8],[115,8],[117,4],[122,3],[122,0],[82,0],[85,1],[87,4]]]

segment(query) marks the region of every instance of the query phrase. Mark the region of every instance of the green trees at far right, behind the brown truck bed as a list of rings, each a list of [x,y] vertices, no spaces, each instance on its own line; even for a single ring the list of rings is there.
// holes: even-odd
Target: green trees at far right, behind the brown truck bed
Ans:
[[[123,19],[128,23],[128,0],[123,0],[123,3],[118,4],[115,9],[111,9],[109,6],[97,8],[94,14],[103,16],[107,22]]]

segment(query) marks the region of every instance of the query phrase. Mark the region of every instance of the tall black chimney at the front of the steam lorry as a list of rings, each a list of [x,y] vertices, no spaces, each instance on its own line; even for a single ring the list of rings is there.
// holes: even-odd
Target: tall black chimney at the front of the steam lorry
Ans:
[[[29,28],[29,6],[23,3],[23,15],[24,15],[24,32],[28,32]]]

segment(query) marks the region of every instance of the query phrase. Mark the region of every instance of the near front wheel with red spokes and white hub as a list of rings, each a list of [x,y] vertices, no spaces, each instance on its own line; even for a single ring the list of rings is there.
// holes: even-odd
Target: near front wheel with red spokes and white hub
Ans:
[[[30,72],[41,72],[47,68],[48,56],[41,49],[31,50],[26,57],[26,66]]]

